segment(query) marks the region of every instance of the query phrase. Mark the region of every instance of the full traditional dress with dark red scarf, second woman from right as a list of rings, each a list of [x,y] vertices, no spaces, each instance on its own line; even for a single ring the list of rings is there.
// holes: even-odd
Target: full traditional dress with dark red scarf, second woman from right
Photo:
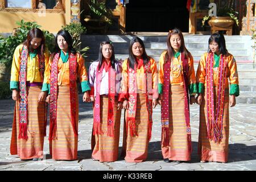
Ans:
[[[166,52],[159,59],[159,94],[162,94],[162,155],[164,159],[191,160],[189,94],[195,95],[196,77],[193,57],[185,59],[176,52],[164,63]]]

